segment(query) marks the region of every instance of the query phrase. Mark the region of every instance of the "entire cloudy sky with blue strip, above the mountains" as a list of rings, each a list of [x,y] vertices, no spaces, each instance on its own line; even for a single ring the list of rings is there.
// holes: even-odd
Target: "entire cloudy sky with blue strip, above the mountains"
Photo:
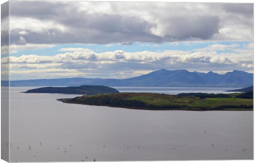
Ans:
[[[253,72],[252,4],[10,1],[9,21],[11,80]]]

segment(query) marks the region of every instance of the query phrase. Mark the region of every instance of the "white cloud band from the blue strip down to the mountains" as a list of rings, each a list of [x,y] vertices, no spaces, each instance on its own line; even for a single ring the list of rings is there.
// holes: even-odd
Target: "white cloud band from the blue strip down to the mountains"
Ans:
[[[45,76],[68,72],[70,76],[128,78],[157,69],[189,69],[191,71],[252,71],[253,53],[216,53],[214,51],[162,51],[125,52],[109,51],[95,53],[89,49],[67,48],[54,56],[21,55],[9,57],[11,75]],[[3,57],[2,64],[8,63]],[[20,70],[22,69],[22,70]],[[19,71],[19,72],[18,72]],[[74,72],[72,74],[71,72]],[[117,73],[119,72],[119,73]],[[66,76],[66,73],[65,75]],[[18,78],[18,77],[17,77]]]

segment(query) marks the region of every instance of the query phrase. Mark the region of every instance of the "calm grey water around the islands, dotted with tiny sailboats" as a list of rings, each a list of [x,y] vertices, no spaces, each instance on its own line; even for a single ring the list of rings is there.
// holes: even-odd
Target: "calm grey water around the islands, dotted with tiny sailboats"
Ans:
[[[11,162],[253,159],[252,111],[87,106],[55,100],[80,95],[20,93],[28,89],[11,88]]]

